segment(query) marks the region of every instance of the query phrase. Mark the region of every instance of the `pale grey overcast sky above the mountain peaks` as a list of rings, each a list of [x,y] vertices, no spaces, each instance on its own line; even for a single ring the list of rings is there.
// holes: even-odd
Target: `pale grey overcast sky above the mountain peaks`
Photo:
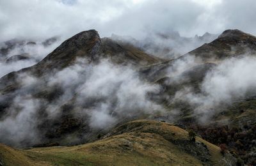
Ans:
[[[241,29],[256,34],[255,0],[0,0],[0,40],[70,37],[96,29],[141,38],[152,31],[182,36]]]

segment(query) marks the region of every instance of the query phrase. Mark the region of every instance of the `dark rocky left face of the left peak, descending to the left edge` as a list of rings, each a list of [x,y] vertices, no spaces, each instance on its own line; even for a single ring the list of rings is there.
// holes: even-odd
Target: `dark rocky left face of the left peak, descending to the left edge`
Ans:
[[[18,72],[12,72],[2,77],[0,79],[0,89],[3,89],[4,87],[1,86],[5,86],[6,84],[17,84],[15,78],[20,73],[29,72],[31,75],[40,77],[44,73],[56,72],[69,66],[74,63],[77,57],[86,57],[90,61],[94,61],[101,53],[99,49],[100,44],[99,34],[95,30],[83,31],[76,34],[72,38],[64,41],[57,49],[34,66],[24,68]]]

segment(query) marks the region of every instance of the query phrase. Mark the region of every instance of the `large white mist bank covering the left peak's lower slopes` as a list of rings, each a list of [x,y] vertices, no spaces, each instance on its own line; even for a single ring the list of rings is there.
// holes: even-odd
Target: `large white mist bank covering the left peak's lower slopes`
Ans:
[[[60,118],[61,107],[70,101],[70,114],[84,119],[83,123],[94,130],[108,130],[125,119],[164,110],[148,98],[148,93],[159,92],[159,86],[141,80],[132,66],[118,66],[108,59],[97,64],[77,59],[72,66],[44,79],[22,73],[19,82],[22,87],[15,91],[8,114],[0,120],[1,142],[15,147],[45,142],[38,126],[45,119]],[[36,96],[40,89],[53,87],[58,87],[55,93],[60,94],[53,100]],[[3,95],[0,97],[4,100]],[[42,111],[47,117],[40,116]]]

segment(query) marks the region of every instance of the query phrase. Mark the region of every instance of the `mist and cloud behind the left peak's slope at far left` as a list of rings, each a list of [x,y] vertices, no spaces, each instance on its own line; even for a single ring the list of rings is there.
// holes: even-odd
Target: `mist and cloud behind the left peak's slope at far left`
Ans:
[[[44,59],[60,45],[60,38],[56,41],[10,40],[0,43],[0,77],[27,68]],[[33,44],[28,44],[33,42]],[[6,44],[7,43],[7,44]]]

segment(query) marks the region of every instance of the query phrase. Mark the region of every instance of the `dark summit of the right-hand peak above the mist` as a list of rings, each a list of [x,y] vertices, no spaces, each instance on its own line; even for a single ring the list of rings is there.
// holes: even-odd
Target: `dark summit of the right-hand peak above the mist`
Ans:
[[[207,61],[255,53],[256,37],[234,29],[224,31],[216,40],[204,44],[188,54],[195,55]]]

